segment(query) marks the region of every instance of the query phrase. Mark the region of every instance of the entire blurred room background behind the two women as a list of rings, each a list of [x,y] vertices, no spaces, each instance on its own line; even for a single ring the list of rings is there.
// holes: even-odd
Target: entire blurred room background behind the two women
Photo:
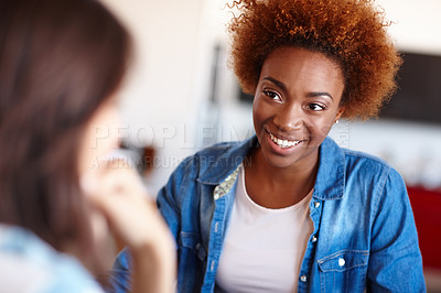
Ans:
[[[132,32],[136,56],[121,91],[125,145],[140,153],[154,195],[203,146],[252,135],[251,101],[227,66],[220,0],[103,0]],[[372,121],[342,121],[340,145],[387,160],[405,177],[429,292],[441,292],[441,1],[379,0],[404,54],[400,89]],[[397,268],[399,270],[399,268]]]

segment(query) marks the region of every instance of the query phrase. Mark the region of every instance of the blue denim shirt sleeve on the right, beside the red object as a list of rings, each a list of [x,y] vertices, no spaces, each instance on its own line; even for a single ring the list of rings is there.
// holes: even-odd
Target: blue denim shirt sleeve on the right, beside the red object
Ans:
[[[413,214],[401,176],[390,170],[376,199],[367,292],[426,292]]]

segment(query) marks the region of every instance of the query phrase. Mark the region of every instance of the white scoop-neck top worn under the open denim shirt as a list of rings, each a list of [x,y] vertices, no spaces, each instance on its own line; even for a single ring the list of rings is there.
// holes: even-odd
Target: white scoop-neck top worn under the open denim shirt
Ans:
[[[216,290],[297,292],[301,262],[313,232],[309,208],[312,191],[293,206],[266,208],[248,196],[244,174],[240,166]]]

